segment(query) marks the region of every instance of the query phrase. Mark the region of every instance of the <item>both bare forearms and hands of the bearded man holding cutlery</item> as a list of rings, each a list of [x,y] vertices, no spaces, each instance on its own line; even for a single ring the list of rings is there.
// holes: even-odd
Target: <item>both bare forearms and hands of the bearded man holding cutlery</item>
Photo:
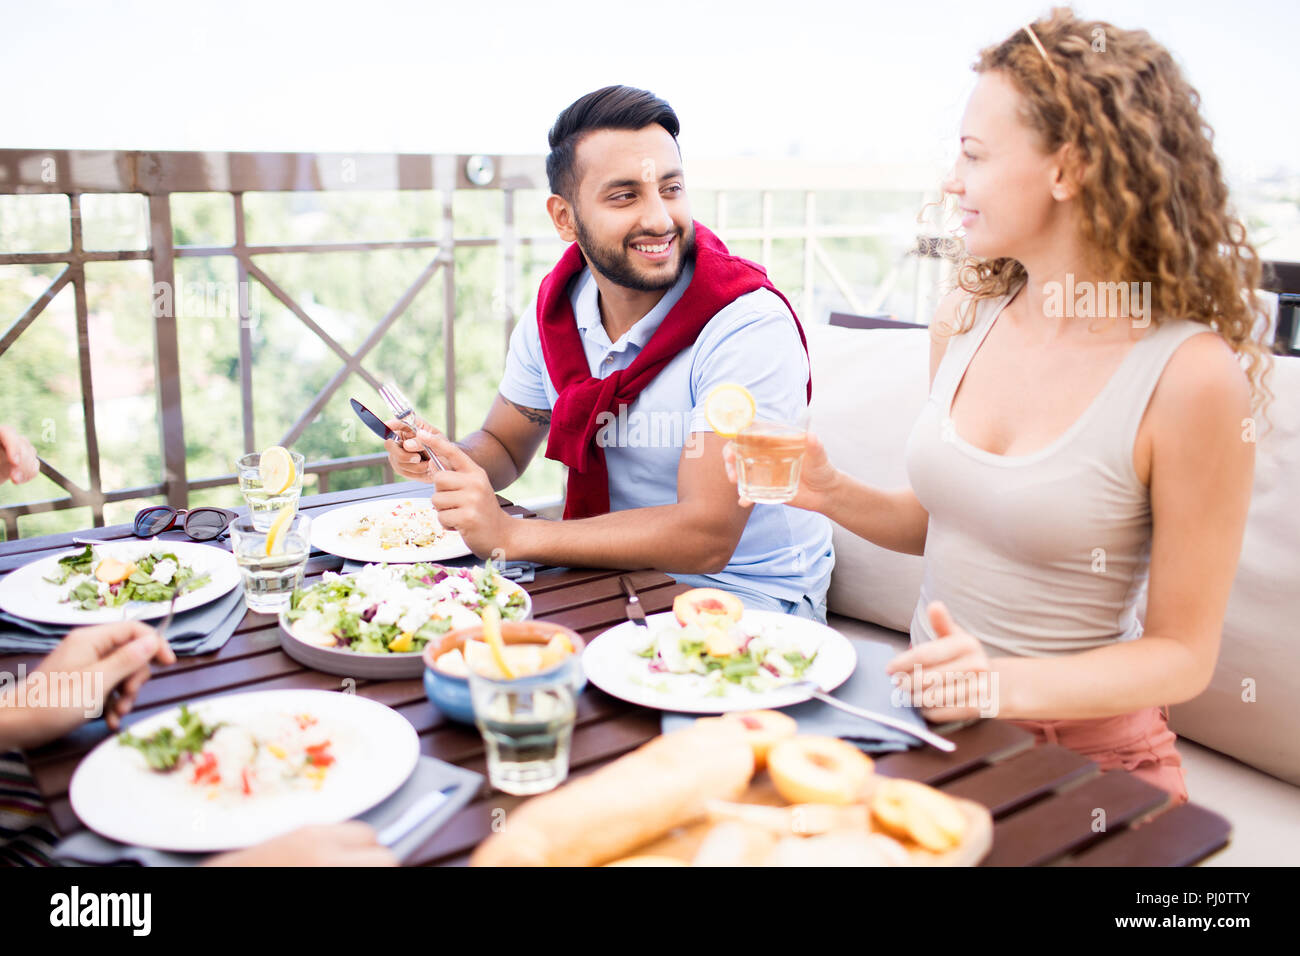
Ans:
[[[550,410],[498,394],[482,428],[458,442],[436,431],[421,437],[451,471],[412,462],[411,442],[387,442],[398,473],[434,484],[434,506],[480,557],[500,549],[511,561],[585,567],[655,567],[714,574],[736,550],[749,509],[736,503],[722,466],[723,441],[694,433],[677,468],[677,502],[566,522],[524,522],[495,505],[494,492],[528,467],[550,428]]]

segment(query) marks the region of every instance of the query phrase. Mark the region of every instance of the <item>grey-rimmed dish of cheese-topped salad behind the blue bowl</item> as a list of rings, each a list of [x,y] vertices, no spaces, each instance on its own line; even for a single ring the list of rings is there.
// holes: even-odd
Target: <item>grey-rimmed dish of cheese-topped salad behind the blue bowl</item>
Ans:
[[[308,667],[352,678],[419,678],[424,648],[473,627],[488,604],[523,620],[533,602],[489,561],[482,567],[367,564],[294,592],[281,611],[281,648]]]

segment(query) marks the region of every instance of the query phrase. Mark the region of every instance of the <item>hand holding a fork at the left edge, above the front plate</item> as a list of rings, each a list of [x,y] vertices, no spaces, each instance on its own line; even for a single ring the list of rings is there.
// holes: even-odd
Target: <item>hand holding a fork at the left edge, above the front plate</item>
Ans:
[[[0,750],[39,747],[100,714],[116,731],[150,679],[151,661],[176,663],[176,654],[143,622],[69,631],[27,675],[21,695],[13,688],[0,698]]]

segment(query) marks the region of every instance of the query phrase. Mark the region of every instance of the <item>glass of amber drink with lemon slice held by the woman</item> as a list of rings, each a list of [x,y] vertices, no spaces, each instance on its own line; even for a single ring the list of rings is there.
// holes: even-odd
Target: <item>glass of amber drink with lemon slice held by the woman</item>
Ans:
[[[754,397],[744,385],[719,385],[705,399],[708,427],[736,446],[736,488],[750,501],[780,505],[800,489],[807,447],[807,412],[797,421],[755,416]]]

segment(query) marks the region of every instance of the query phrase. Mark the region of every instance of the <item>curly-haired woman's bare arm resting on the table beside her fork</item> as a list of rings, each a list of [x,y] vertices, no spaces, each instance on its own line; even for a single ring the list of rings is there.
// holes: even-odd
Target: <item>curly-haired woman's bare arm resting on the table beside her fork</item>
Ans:
[[[1013,719],[1127,714],[1180,704],[1208,687],[1254,472],[1254,444],[1242,433],[1251,415],[1249,389],[1227,345],[1210,336],[1184,343],[1147,415],[1152,545],[1141,639],[1062,657],[989,659],[956,622],[953,631],[936,627],[939,640],[894,658],[890,672],[909,672],[918,662],[923,672],[930,666],[958,672],[984,666],[998,674],[997,715]],[[932,605],[932,626],[946,617]]]

